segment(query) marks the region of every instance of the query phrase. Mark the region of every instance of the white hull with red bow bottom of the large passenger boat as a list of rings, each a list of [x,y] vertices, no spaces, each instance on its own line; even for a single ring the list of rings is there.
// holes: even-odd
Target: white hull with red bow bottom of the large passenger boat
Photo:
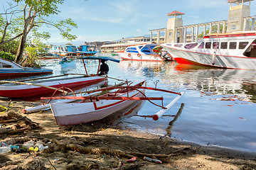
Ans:
[[[227,69],[256,69],[255,57],[238,57],[228,55],[216,55],[213,62],[213,54],[177,50],[162,45],[178,64],[193,64],[208,67],[220,67]],[[214,63],[214,64],[213,64]]]

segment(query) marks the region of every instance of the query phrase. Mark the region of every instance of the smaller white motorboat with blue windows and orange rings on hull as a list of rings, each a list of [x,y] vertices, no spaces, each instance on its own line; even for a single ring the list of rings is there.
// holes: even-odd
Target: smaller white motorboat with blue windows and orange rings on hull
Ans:
[[[163,62],[164,58],[153,52],[154,47],[155,44],[132,45],[122,52],[117,52],[117,55],[123,60]]]

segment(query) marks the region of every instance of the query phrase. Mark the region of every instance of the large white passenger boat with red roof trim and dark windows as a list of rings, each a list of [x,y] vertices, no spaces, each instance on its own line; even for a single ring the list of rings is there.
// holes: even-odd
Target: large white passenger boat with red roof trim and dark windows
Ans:
[[[256,69],[256,32],[213,34],[198,42],[161,44],[178,64]]]

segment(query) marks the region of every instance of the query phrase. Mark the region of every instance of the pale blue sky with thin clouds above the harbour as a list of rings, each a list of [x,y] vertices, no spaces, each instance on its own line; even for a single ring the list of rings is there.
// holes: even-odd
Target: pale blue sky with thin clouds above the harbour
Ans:
[[[65,0],[58,6],[60,13],[49,19],[72,18],[78,24],[78,28],[71,32],[78,37],[72,43],[79,45],[85,41],[149,35],[149,30],[166,28],[166,14],[172,11],[185,13],[183,26],[227,20],[229,7],[227,0]],[[251,16],[256,16],[255,9],[256,1],[252,1]],[[50,44],[67,42],[56,28],[44,27],[42,30],[51,34]]]

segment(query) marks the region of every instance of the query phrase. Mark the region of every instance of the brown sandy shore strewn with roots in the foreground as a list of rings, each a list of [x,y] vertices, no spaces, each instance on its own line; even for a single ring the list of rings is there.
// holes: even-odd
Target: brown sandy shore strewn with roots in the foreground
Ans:
[[[0,169],[256,169],[253,153],[122,130],[107,120],[60,127],[50,111],[21,113],[25,106],[38,104],[0,98],[0,105],[9,108],[0,114],[0,124],[3,128],[15,127],[13,131],[2,132],[0,142],[18,145],[33,140],[48,145],[48,149],[40,152],[22,149],[0,154]],[[3,118],[11,113],[22,117],[6,123]],[[27,124],[22,126],[24,123]],[[32,127],[28,128],[28,124]],[[127,162],[132,157],[137,158]],[[144,157],[158,159],[162,164],[149,162]]]

